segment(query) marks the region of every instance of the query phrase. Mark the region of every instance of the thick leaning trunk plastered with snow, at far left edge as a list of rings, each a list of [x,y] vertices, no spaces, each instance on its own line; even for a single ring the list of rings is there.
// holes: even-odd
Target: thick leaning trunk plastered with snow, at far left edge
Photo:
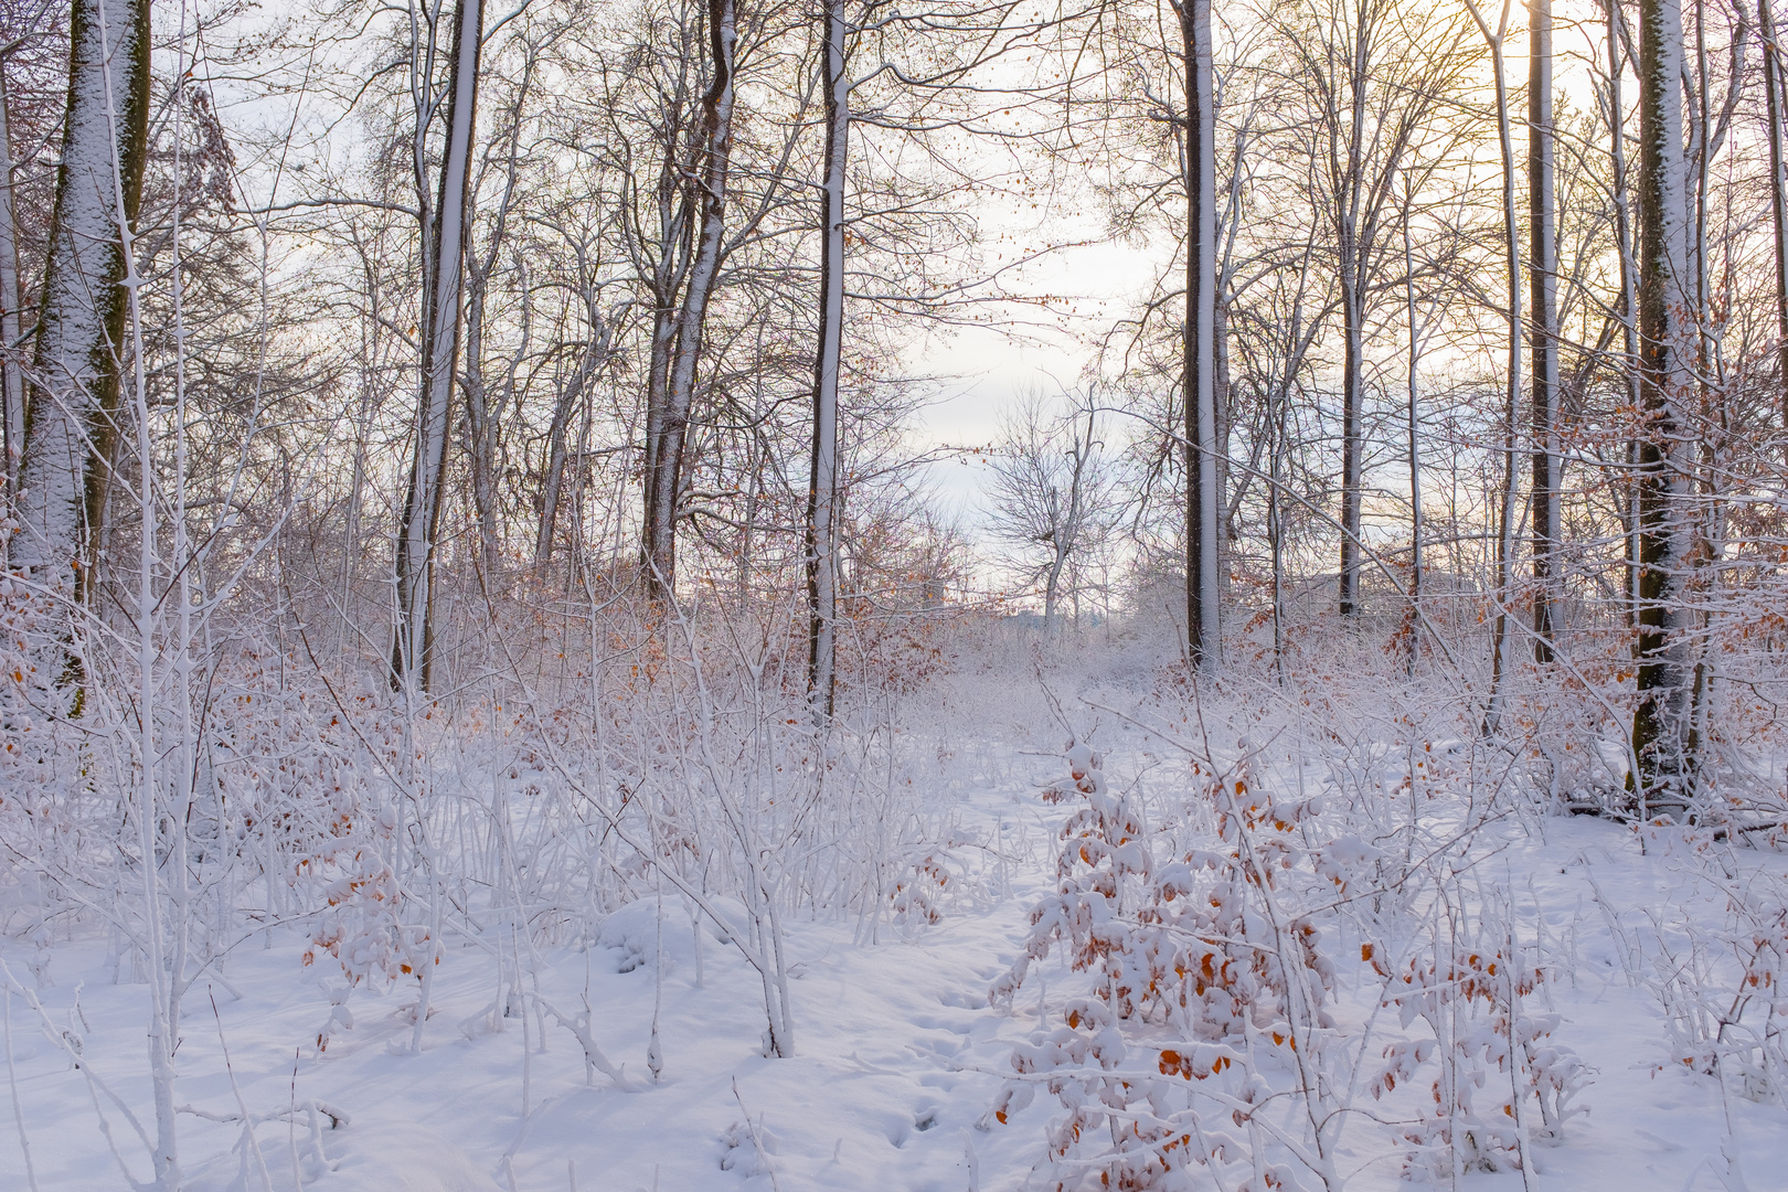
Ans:
[[[102,16],[105,18],[102,21]],[[52,595],[84,600],[98,563],[118,438],[125,243],[148,145],[148,0],[75,0],[68,116],[38,311],[11,561]]]

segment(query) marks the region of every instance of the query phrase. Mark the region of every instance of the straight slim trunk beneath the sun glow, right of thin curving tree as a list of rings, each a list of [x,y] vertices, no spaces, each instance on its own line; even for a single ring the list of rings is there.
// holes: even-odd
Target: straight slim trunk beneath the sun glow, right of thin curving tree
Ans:
[[[1534,300],[1534,661],[1552,661],[1559,509],[1559,313],[1552,141],[1552,0],[1529,2],[1527,25],[1529,288]]]

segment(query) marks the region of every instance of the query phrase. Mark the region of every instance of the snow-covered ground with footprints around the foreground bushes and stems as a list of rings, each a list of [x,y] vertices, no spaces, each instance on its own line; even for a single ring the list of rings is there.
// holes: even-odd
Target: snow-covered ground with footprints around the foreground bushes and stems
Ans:
[[[1060,777],[1062,761],[1044,736],[971,743],[978,761],[932,792],[930,811],[949,822],[955,842],[935,924],[810,915],[783,924],[796,1049],[787,1060],[763,1054],[756,972],[713,924],[692,920],[669,895],[608,915],[590,947],[538,949],[529,961],[538,992],[510,1013],[488,960],[493,944],[449,936],[420,1051],[406,1015],[411,985],[356,990],[352,1026],[338,1026],[318,1053],[331,1004],[300,965],[308,936],[293,928],[254,933],[186,1003],[179,1101],[218,1117],[316,1101],[347,1121],[331,1128],[300,1110],[263,1122],[250,1140],[236,1122],[184,1117],[188,1188],[1050,1187],[1044,1131],[1060,1104],[1039,1095],[1003,1124],[989,1113],[1014,1047],[1087,988],[1058,947],[1030,970],[1010,1008],[989,1004],[989,985],[1025,947],[1030,908],[1057,888],[1066,811],[1039,790]],[[1119,726],[1103,736],[1112,774],[1148,770],[1144,733]],[[1638,954],[1641,936],[1666,945],[1702,931],[1718,938],[1729,885],[1709,883],[1709,867],[1729,881],[1772,881],[1788,874],[1788,856],[1672,829],[1645,844],[1641,851],[1631,827],[1590,817],[1502,817],[1479,831],[1479,881],[1504,892],[1514,931],[1550,963],[1550,979],[1529,1001],[1559,1015],[1554,1040],[1582,1058],[1590,1085],[1579,1097],[1588,1113],[1566,1124],[1563,1140],[1532,1147],[1534,1171],[1472,1171],[1463,1187],[1788,1188],[1779,1092],[1745,1095],[1736,1078],[1722,1083],[1677,1062],[1657,979],[1670,961]],[[79,936],[41,947],[5,940],[0,958],[25,985],[36,976],[46,1019],[148,1124],[145,985],[116,983],[102,942]],[[1684,953],[1679,967],[1690,963]],[[1706,965],[1713,979],[1718,958]],[[1332,1006],[1359,1024],[1379,997],[1380,985],[1361,967],[1337,978]],[[654,999],[658,1079],[647,1070]],[[542,1004],[572,1017],[588,1004],[592,1035],[622,1081],[586,1079],[578,1040]],[[29,1187],[18,1122],[39,1190],[123,1187],[107,1128],[143,1178],[147,1160],[120,1112],[89,1092],[36,1010],[14,995],[7,1012],[16,1112],[0,1115],[0,1192]],[[1382,1122],[1355,1113],[1341,1133],[1336,1169],[1348,1188],[1409,1178],[1398,1119],[1379,1112]],[[1194,1187],[1218,1185],[1196,1174]]]

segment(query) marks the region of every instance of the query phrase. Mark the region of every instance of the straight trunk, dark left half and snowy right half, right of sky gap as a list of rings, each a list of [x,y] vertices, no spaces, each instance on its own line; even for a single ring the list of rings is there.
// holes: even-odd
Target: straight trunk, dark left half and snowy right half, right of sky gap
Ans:
[[[1194,667],[1223,663],[1218,459],[1218,164],[1210,0],[1178,0],[1185,41],[1185,633]]]

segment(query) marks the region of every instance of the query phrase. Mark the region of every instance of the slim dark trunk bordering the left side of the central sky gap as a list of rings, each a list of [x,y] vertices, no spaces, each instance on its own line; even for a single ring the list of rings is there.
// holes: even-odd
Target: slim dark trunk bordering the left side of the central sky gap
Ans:
[[[814,720],[831,720],[839,568],[839,359],[844,338],[844,166],[851,136],[851,80],[844,57],[844,0],[824,0],[826,180],[821,188],[819,352],[814,359],[814,466],[806,490],[806,699]],[[747,522],[749,525],[749,522]]]

